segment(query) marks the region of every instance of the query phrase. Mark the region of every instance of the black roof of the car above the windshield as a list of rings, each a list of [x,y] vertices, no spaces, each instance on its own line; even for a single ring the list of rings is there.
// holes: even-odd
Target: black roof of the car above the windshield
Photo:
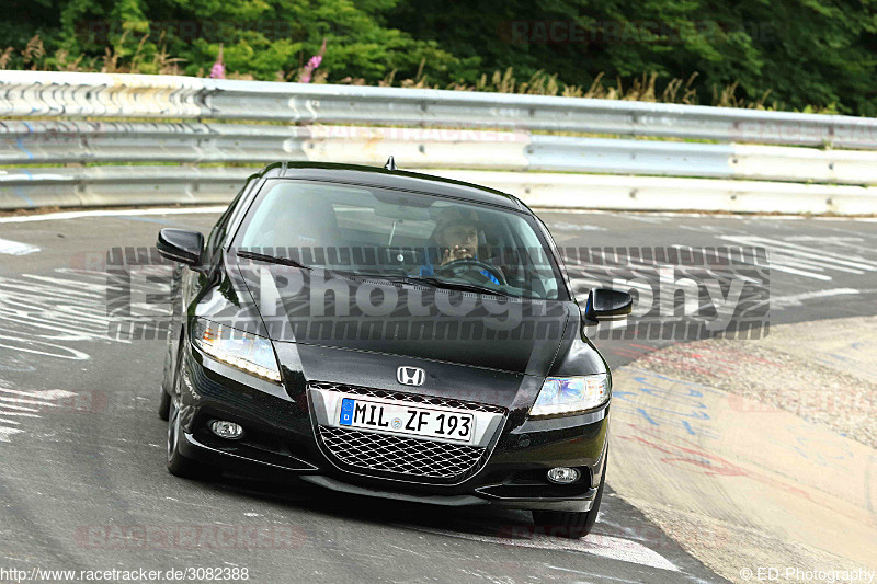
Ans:
[[[398,188],[532,211],[517,197],[487,186],[443,176],[331,162],[275,162],[260,173],[265,179],[297,179]]]

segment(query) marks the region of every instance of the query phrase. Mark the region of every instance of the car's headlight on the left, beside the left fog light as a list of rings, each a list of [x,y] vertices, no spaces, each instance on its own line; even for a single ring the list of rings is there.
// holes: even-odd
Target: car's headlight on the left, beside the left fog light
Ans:
[[[197,319],[192,341],[217,360],[275,383],[281,381],[274,347],[267,339]]]

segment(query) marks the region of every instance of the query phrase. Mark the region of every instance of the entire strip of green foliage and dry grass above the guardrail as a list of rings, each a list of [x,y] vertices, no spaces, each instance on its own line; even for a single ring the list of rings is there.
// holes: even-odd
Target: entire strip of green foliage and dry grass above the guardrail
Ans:
[[[5,0],[0,67],[877,115],[877,0]]]

